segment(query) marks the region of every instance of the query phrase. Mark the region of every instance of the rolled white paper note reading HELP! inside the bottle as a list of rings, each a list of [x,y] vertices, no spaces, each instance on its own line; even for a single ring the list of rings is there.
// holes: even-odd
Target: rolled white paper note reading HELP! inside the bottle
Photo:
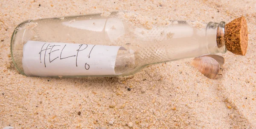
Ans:
[[[23,69],[28,76],[115,75],[120,46],[28,41]]]

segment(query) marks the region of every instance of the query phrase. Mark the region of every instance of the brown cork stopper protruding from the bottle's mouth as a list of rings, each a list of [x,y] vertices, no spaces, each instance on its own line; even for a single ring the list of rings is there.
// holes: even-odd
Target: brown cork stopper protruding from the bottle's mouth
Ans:
[[[228,51],[244,56],[248,46],[247,22],[239,17],[225,25],[225,45]]]

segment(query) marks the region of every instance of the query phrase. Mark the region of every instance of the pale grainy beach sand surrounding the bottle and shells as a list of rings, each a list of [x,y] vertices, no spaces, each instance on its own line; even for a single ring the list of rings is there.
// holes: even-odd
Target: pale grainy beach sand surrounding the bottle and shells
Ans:
[[[95,1],[0,1],[0,129],[256,128],[255,0]],[[204,22],[244,15],[247,54],[220,54],[226,62],[216,80],[192,67],[192,59],[152,65],[125,78],[32,78],[15,70],[10,40],[23,20],[118,10]]]

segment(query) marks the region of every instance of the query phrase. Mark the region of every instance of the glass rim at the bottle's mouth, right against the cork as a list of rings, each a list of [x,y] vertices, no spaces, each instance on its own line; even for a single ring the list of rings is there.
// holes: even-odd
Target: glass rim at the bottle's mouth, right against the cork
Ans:
[[[216,35],[216,42],[218,45],[218,48],[220,50],[221,53],[226,53],[226,46],[225,46],[225,22],[220,22],[218,24],[218,28],[217,28],[217,35]]]

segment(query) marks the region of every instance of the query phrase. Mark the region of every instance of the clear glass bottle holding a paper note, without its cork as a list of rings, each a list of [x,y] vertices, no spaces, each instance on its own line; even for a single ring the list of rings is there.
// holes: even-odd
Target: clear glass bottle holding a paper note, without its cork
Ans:
[[[157,25],[137,17],[119,11],[24,21],[12,35],[12,61],[25,76],[128,76],[150,64],[226,52],[225,22]]]

